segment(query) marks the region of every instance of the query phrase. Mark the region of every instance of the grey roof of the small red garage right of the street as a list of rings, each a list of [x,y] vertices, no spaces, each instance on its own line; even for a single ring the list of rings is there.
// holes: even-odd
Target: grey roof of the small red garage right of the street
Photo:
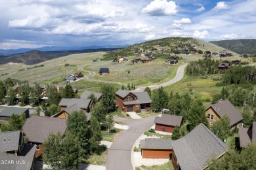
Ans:
[[[161,125],[169,125],[169,126],[181,126],[182,116],[170,115],[170,114],[162,114],[161,117],[156,117],[154,123],[159,123]]]

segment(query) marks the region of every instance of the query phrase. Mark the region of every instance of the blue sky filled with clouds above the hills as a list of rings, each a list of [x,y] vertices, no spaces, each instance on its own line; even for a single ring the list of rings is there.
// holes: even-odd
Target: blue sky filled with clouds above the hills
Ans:
[[[0,0],[0,49],[256,38],[256,0]]]

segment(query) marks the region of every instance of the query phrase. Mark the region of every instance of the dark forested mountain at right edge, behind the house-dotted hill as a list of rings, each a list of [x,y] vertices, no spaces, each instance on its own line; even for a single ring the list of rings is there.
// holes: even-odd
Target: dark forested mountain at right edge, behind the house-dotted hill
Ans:
[[[234,51],[238,54],[256,54],[256,39],[233,39],[210,41],[210,43]]]

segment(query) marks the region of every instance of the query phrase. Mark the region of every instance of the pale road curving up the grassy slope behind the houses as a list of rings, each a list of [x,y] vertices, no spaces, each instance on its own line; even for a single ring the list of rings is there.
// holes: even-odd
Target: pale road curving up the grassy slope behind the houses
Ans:
[[[188,64],[183,64],[182,66],[179,66],[179,68],[177,69],[177,74],[175,75],[175,77],[173,79],[171,79],[170,81],[167,81],[165,83],[161,83],[160,85],[150,85],[148,87],[150,87],[151,90],[154,89],[158,89],[159,87],[165,87],[167,85],[171,85],[173,83],[176,83],[177,81],[180,81],[183,78],[184,75],[184,68],[186,68]],[[137,89],[135,89],[132,92],[139,92],[139,91],[144,91],[146,87],[138,87]]]

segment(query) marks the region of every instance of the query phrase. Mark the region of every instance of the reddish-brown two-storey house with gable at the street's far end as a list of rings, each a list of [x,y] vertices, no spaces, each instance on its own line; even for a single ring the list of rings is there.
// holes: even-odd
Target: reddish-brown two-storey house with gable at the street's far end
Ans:
[[[122,89],[116,91],[116,106],[123,112],[150,110],[151,103],[152,100],[146,91],[133,93]]]

